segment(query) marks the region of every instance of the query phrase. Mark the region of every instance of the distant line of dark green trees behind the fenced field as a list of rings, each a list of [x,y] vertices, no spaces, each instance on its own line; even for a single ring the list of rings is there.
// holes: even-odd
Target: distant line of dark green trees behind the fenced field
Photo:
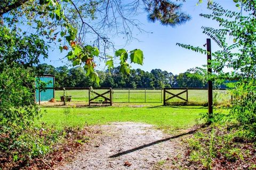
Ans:
[[[110,71],[98,71],[100,83],[97,85],[86,77],[82,67],[55,68],[49,64],[39,64],[36,67],[38,75],[55,75],[55,87],[119,87],[119,88],[163,88],[163,87],[206,87],[207,82],[189,72],[173,75],[171,72],[153,69],[150,72],[141,69],[131,69],[130,75],[119,73],[119,68]]]

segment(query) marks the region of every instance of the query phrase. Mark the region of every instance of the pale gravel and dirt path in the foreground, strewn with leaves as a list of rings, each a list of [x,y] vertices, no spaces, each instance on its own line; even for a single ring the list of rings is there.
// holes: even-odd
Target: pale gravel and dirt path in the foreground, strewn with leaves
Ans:
[[[153,169],[172,158],[178,145],[175,140],[164,140],[169,136],[153,125],[125,122],[99,128],[102,135],[59,169]]]

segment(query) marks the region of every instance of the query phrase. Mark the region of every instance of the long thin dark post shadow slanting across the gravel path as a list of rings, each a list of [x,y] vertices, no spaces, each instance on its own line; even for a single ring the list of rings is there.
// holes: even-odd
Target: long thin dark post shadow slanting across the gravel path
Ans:
[[[182,134],[179,134],[179,135],[175,135],[175,136],[172,136],[172,137],[167,137],[166,139],[162,139],[162,140],[158,140],[158,141],[155,141],[155,142],[151,142],[151,143],[148,143],[148,144],[145,144],[145,145],[141,145],[137,148],[133,148],[133,149],[130,149],[130,150],[126,150],[126,151],[123,151],[123,152],[120,152],[120,153],[116,153],[115,155],[112,155],[110,156],[109,158],[116,158],[116,157],[119,157],[119,156],[122,156],[122,155],[126,155],[128,153],[131,153],[131,152],[134,152],[134,151],[137,151],[137,150],[140,150],[140,149],[143,149],[143,148],[147,148],[147,147],[150,147],[151,145],[154,145],[154,144],[158,144],[158,143],[162,143],[162,142],[165,142],[165,141],[169,141],[171,139],[176,139],[176,138],[179,138],[181,136],[185,136],[185,135],[188,135],[188,134],[193,134],[195,133],[196,131],[198,130],[195,129],[193,131],[189,131],[187,133],[182,133]]]

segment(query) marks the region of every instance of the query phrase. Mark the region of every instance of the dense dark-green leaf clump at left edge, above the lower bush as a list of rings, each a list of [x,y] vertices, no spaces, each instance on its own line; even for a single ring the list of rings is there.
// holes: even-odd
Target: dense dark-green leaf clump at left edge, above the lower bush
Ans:
[[[25,67],[39,62],[39,56],[47,58],[48,45],[38,35],[20,35],[17,30],[0,26],[0,70],[14,62]]]

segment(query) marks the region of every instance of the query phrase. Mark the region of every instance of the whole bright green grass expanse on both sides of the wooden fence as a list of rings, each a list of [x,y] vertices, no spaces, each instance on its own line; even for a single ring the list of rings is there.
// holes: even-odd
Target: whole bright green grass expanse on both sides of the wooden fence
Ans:
[[[113,90],[114,106],[112,107],[86,107],[88,104],[88,90],[67,90],[66,95],[72,96],[68,106],[42,107],[46,110],[40,122],[49,126],[62,129],[65,126],[83,127],[85,125],[108,124],[111,122],[141,122],[156,125],[165,129],[166,132],[177,132],[177,129],[186,129],[197,123],[200,113],[207,112],[207,107],[202,106],[162,106],[163,92],[161,90]],[[182,90],[171,90],[178,94]],[[97,93],[106,90],[95,90]],[[60,100],[63,91],[55,91],[55,99]],[[91,98],[93,98],[92,95]],[[109,96],[107,94],[106,96]],[[155,103],[139,103],[139,102]],[[171,95],[166,94],[166,98]],[[214,102],[225,102],[230,100],[227,91],[214,91]],[[181,95],[186,98],[186,93]],[[102,100],[98,98],[98,100]],[[118,103],[118,102],[131,103]],[[133,102],[133,103],[132,103]],[[138,103],[135,103],[138,102]],[[157,103],[158,102],[158,103]],[[180,99],[172,99],[171,102],[181,102]],[[189,90],[188,102],[191,104],[204,105],[207,103],[207,90]],[[61,102],[57,102],[61,105]],[[47,104],[45,105],[47,106]],[[56,106],[56,105],[55,105]]]

